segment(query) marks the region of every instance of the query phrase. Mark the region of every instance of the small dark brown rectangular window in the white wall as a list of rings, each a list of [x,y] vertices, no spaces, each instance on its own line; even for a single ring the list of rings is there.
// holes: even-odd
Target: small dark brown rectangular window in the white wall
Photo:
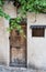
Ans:
[[[44,37],[44,28],[32,28],[32,37]]]

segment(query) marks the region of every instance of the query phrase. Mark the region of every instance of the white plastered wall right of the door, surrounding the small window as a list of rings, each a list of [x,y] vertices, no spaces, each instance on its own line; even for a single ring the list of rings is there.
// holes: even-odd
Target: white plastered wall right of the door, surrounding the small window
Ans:
[[[44,38],[32,38],[31,25],[46,25],[46,14],[27,14],[27,64],[34,68],[46,68],[46,29]]]

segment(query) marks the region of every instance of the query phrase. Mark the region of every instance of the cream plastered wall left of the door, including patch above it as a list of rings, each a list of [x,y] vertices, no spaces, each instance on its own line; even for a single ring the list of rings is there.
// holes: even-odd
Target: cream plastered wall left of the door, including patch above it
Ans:
[[[13,3],[5,3],[3,10],[10,14],[11,18],[16,17],[16,8],[13,7]],[[10,63],[10,42],[9,42],[9,32],[7,28],[9,27],[9,21],[0,18],[0,63],[8,64]]]

